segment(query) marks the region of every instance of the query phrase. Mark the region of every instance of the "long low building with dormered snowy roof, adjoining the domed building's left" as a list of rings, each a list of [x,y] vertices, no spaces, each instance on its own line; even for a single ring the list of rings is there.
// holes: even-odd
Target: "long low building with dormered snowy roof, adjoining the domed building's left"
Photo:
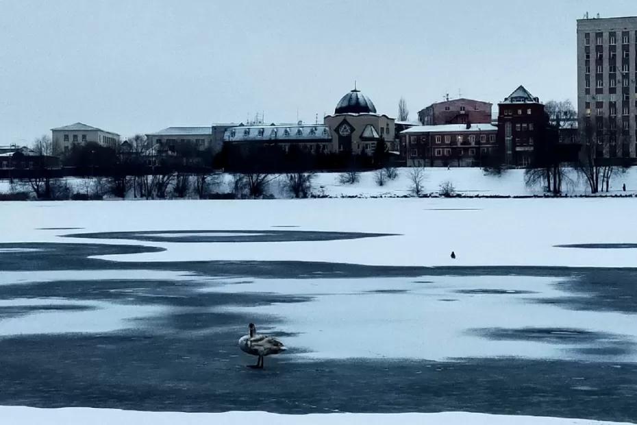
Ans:
[[[332,134],[327,125],[294,124],[240,125],[225,131],[224,140],[238,145],[271,145],[285,151],[291,145],[317,154],[332,152]]]

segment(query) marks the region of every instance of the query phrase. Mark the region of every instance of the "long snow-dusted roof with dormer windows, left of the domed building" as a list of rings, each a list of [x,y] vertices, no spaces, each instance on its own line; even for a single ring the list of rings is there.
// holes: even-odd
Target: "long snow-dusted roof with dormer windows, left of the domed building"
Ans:
[[[245,125],[225,131],[223,140],[247,141],[332,141],[329,127],[323,124]]]

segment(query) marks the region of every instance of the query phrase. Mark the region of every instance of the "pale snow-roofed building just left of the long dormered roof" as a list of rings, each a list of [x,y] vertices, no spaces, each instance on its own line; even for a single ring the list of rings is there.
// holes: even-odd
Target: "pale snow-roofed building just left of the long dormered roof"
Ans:
[[[146,134],[147,146],[158,145],[162,150],[175,154],[179,145],[192,145],[198,150],[221,150],[225,131],[235,123],[212,124],[208,127],[167,127],[155,133]]]

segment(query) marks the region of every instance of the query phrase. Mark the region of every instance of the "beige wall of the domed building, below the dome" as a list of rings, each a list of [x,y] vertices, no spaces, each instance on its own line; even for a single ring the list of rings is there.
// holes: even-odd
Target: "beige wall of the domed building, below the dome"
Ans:
[[[340,151],[338,129],[343,121],[353,128],[351,132],[351,151],[353,154],[360,154],[366,151],[372,154],[376,149],[374,141],[364,141],[361,134],[367,125],[373,125],[379,136],[385,141],[387,147],[391,147],[395,138],[395,120],[386,115],[377,114],[336,114],[327,115],[324,119],[325,125],[332,133],[332,151]]]

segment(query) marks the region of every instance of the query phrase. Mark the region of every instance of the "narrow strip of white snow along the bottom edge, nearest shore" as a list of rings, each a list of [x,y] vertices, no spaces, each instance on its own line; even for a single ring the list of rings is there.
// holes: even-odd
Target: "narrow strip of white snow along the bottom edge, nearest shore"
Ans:
[[[277,415],[266,412],[175,413],[114,409],[35,409],[0,406],[3,423],[11,425],[619,425],[620,422],[555,417],[486,415],[484,413],[329,413]],[[628,422],[623,422],[629,425]]]

